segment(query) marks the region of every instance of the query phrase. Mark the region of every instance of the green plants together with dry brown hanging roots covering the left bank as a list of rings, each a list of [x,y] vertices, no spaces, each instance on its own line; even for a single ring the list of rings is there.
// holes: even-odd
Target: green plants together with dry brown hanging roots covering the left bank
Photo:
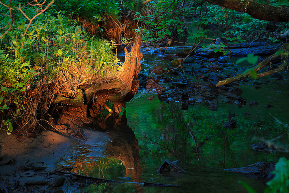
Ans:
[[[96,88],[114,83],[122,87],[123,84],[116,84],[120,81],[118,71],[122,69],[126,73],[129,67],[122,65],[126,69],[121,68],[112,51],[114,44],[88,34],[76,20],[67,17],[65,11],[49,9],[28,24],[21,12],[13,13],[10,21],[7,7],[2,3],[0,8],[7,13],[1,15],[0,128],[8,135],[13,127],[32,131],[42,126],[40,122],[53,125],[51,109],[55,110],[57,100],[65,103],[64,100],[76,99],[83,105],[87,101],[79,96],[83,96],[81,89],[89,87],[87,85]],[[36,14],[34,7],[25,8],[27,17]],[[7,24],[12,22],[11,29],[7,30]],[[129,81],[129,74],[126,75],[121,79]],[[124,93],[128,92],[129,89]]]

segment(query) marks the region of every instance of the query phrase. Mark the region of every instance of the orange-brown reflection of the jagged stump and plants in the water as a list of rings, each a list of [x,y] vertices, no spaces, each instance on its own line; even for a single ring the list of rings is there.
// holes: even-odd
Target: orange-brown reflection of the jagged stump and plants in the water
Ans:
[[[138,140],[127,125],[125,111],[122,116],[106,116],[104,120],[90,123],[87,126],[94,130],[108,131],[112,141],[106,147],[107,157],[97,158],[97,160],[95,157],[77,159],[72,172],[104,179],[140,182],[141,160]],[[141,192],[142,187],[134,184],[92,184],[85,188],[85,191],[110,192],[112,189],[116,192],[126,192],[127,190]]]

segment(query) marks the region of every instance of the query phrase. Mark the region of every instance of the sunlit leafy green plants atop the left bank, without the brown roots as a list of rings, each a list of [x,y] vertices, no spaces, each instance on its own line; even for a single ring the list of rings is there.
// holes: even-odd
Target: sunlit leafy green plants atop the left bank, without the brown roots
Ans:
[[[0,11],[7,13],[6,7],[0,7]],[[25,13],[31,18],[36,10],[26,8]],[[114,48],[111,43],[89,37],[77,26],[76,20],[64,14],[64,11],[48,10],[34,19],[22,37],[21,33],[28,24],[23,15],[16,12],[16,25],[1,39],[0,128],[7,127],[4,129],[7,133],[11,133],[12,123],[23,116],[27,86],[37,84],[43,76],[55,80],[66,76],[67,81],[71,79],[79,84],[91,74],[113,76],[119,68],[119,60],[111,51]],[[8,29],[5,27],[7,17],[1,15],[0,19],[0,27],[3,27],[0,32],[3,34]],[[63,94],[69,93],[68,89]]]

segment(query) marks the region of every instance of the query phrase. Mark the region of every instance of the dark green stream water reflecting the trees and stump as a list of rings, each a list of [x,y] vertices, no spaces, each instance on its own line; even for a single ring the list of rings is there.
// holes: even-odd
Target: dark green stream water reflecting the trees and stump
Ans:
[[[167,52],[175,53],[178,49],[181,48],[168,48]],[[228,61],[228,65],[233,60]],[[199,64],[186,64],[187,67],[189,65],[197,67]],[[205,62],[203,65],[210,64]],[[144,49],[142,73],[149,75],[148,70],[156,66],[167,68],[170,62],[162,60],[161,52]],[[237,73],[248,67],[250,66],[244,63]],[[230,73],[229,69],[222,72]],[[111,142],[106,145],[106,156],[81,154],[86,157],[85,163],[79,164],[73,171],[105,179],[180,186],[100,184],[84,188],[87,192],[246,192],[238,181],[246,182],[256,192],[264,192],[266,185],[261,181],[224,169],[260,161],[277,162],[282,156],[289,158],[286,153],[288,128],[279,123],[288,124],[289,120],[288,74],[286,72],[281,75],[281,80],[267,77],[239,82],[242,97],[247,102],[257,101],[257,106],[250,107],[247,104],[238,107],[219,99],[217,111],[209,110],[202,103],[182,110],[180,102],[160,102],[155,92],[141,88],[126,104],[122,118],[114,123],[106,123],[107,134],[111,137]],[[194,79],[193,76],[186,78]],[[260,84],[260,88],[254,88],[256,84]],[[152,95],[154,99],[147,100]],[[265,108],[268,104],[273,107]],[[223,127],[231,117],[236,120],[236,128]],[[91,128],[93,129],[93,124]],[[250,147],[251,143],[272,139],[271,143],[282,152],[268,154],[254,151]],[[81,152],[93,152],[85,147],[77,148]],[[84,160],[83,157],[81,159]],[[179,160],[181,167],[187,172],[158,173],[158,168],[165,159]]]

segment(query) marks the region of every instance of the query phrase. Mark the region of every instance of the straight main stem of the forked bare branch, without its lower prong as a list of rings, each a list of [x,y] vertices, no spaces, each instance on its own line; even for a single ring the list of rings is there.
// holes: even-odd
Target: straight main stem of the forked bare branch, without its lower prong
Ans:
[[[272,61],[276,60],[277,58],[280,57],[280,53],[279,51],[276,52],[275,54],[269,56],[268,58],[266,58],[265,60],[263,60],[261,63],[255,65],[254,67],[254,70],[256,72],[260,71],[262,68],[266,67],[268,64],[270,64]],[[235,81],[239,81],[239,80],[242,80],[244,78],[248,78],[250,77],[251,74],[250,72],[247,72],[247,73],[242,73],[242,74],[237,74],[236,76],[234,77],[230,77],[230,78],[227,78],[225,80],[221,80],[219,81],[216,86],[221,86],[221,85],[224,85],[224,84],[229,84],[231,82],[235,82]],[[259,76],[258,76],[259,77]]]

